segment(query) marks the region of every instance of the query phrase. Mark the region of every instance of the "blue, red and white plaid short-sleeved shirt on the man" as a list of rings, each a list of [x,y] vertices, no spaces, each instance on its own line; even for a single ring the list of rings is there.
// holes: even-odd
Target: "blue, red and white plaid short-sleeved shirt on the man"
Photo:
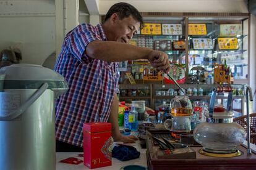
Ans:
[[[97,39],[106,41],[100,24],[77,26],[64,39],[54,67],[69,83],[69,90],[56,100],[56,139],[79,147],[83,123],[108,121],[118,91],[118,63],[84,54],[88,43]]]

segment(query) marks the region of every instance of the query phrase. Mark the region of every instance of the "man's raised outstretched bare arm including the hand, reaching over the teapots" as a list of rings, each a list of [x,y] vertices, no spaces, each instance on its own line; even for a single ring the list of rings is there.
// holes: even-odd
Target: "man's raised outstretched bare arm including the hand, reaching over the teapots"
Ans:
[[[107,62],[148,59],[151,65],[165,73],[169,71],[168,55],[145,47],[132,46],[116,41],[95,40],[87,45],[85,54]]]

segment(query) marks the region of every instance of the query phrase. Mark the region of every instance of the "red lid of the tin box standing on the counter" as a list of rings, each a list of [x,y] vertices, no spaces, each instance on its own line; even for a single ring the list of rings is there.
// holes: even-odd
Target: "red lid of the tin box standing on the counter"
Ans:
[[[92,133],[111,131],[111,123],[106,123],[106,122],[83,123],[83,131],[88,131]]]

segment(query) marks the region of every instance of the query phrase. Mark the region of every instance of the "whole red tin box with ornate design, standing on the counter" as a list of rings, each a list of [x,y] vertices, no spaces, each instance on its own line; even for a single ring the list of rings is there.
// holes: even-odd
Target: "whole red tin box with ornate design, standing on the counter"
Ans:
[[[83,164],[88,168],[111,166],[111,124],[83,124]]]

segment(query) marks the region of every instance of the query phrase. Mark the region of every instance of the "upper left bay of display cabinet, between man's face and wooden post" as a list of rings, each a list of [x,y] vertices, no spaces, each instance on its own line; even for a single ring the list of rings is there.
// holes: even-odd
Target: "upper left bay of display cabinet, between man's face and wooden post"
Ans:
[[[182,63],[182,56],[186,55],[185,18],[144,17],[143,20],[145,25],[132,39],[134,44],[163,51],[168,54],[169,62]]]

